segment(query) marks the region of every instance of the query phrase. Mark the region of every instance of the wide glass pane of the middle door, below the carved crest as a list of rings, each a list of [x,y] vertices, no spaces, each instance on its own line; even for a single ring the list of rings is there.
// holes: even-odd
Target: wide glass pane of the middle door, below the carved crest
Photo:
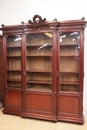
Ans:
[[[32,91],[52,91],[52,34],[26,37],[26,84]]]

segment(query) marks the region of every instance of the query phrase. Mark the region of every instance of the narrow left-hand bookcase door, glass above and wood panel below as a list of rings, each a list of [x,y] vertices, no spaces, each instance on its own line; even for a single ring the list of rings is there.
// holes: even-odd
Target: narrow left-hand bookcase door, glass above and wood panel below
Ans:
[[[5,108],[22,109],[22,42],[20,35],[4,37]]]

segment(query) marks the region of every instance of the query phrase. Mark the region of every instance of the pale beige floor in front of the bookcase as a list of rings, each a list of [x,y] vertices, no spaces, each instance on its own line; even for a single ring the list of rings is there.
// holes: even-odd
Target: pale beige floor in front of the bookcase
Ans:
[[[87,119],[83,125],[68,123],[43,121],[20,116],[3,114],[0,105],[0,130],[87,130]]]

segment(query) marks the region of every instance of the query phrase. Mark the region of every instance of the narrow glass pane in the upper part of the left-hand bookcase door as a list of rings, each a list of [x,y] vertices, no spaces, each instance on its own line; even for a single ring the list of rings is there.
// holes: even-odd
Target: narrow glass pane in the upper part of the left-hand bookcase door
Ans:
[[[21,88],[21,37],[7,37],[7,87]]]

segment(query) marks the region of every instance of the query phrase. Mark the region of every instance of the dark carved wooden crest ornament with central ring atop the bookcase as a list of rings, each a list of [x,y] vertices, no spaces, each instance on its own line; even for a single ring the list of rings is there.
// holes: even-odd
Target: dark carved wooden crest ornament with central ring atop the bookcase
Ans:
[[[34,15],[33,21],[28,20],[28,23],[30,24],[29,27],[33,29],[46,28],[49,26],[49,24],[46,23],[46,18],[42,19],[40,15]]]

